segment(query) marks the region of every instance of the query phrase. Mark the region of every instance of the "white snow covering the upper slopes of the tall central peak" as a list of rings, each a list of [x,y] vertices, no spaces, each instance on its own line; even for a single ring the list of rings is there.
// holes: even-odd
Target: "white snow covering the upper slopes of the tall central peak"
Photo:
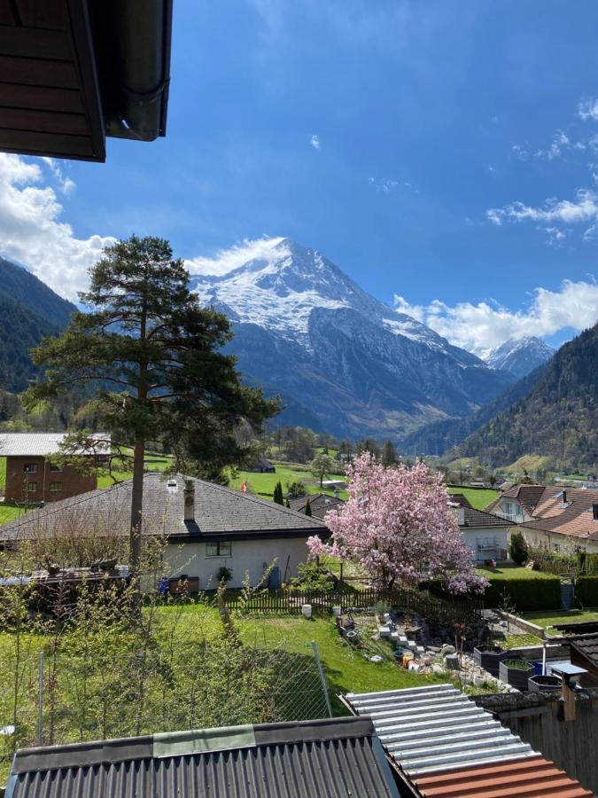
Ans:
[[[310,348],[309,320],[314,309],[351,308],[376,319],[396,335],[440,351],[454,348],[438,333],[363,291],[315,249],[291,239],[260,241],[259,254],[247,262],[235,258],[222,272],[220,261],[187,263],[199,300],[214,305],[239,323],[260,325]],[[214,273],[210,273],[212,268]],[[226,268],[226,267],[225,267]],[[461,350],[462,351],[462,350]],[[471,356],[464,362],[470,364]]]

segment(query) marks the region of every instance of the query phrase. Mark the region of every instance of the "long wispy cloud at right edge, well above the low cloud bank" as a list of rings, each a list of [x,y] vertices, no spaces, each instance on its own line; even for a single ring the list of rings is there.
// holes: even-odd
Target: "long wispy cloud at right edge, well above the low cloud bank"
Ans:
[[[589,223],[584,231],[588,237],[598,222],[598,194],[589,189],[579,189],[575,200],[546,200],[544,207],[525,205],[524,202],[511,202],[503,207],[491,207],[486,217],[493,224],[503,222],[536,222],[540,228],[548,231],[556,224]]]

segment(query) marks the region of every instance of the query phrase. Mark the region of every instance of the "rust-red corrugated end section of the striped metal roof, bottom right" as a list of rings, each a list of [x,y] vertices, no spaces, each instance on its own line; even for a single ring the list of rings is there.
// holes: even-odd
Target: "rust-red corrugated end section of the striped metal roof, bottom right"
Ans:
[[[512,798],[512,796],[551,795],[554,798],[592,798],[555,763],[541,756],[527,757],[508,763],[478,765],[452,771],[411,777],[425,798]]]

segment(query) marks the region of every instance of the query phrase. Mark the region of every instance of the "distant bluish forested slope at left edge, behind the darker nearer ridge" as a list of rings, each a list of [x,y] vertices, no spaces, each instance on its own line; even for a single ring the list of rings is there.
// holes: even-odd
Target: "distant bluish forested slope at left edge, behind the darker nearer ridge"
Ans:
[[[62,299],[30,271],[4,258],[0,258],[0,296],[18,301],[60,329],[76,310],[73,302]]]

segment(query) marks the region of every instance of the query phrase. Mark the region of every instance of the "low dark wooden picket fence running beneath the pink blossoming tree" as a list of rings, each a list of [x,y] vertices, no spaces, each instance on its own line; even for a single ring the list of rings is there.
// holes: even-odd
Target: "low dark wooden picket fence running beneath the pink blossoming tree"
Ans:
[[[299,614],[304,604],[310,604],[314,613],[330,612],[333,606],[340,606],[346,612],[384,604],[423,615],[428,622],[443,624],[470,624],[479,621],[484,608],[483,603],[475,599],[445,600],[437,599],[427,591],[384,591],[376,588],[344,591],[263,591],[249,600],[244,599],[240,593],[227,593],[225,601],[230,609],[273,614]]]

